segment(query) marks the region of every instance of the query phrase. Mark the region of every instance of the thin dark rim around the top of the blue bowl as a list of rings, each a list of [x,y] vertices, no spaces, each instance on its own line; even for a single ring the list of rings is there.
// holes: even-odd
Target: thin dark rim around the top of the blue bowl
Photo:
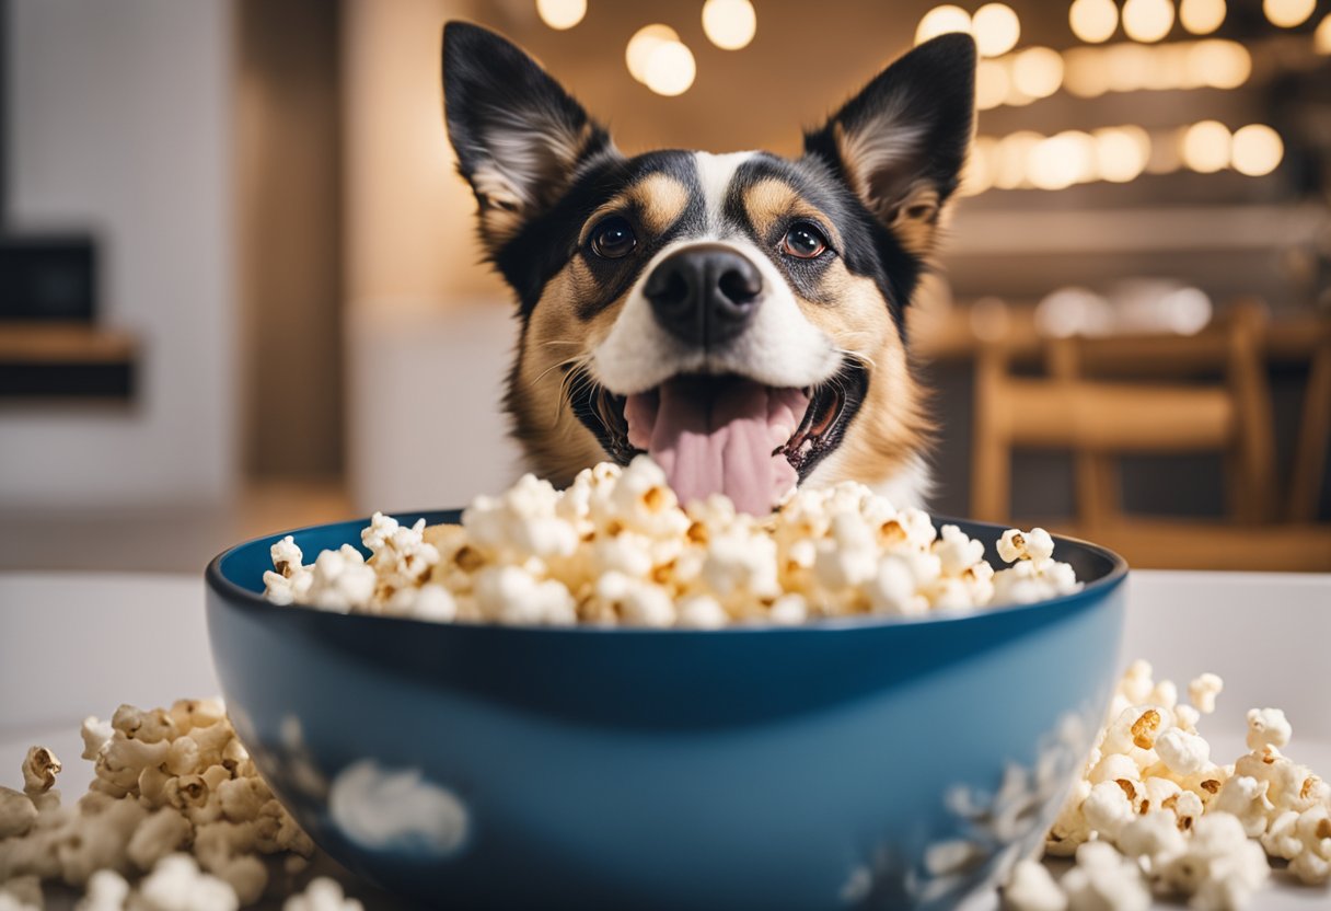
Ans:
[[[386,513],[393,518],[402,517],[423,517],[423,515],[439,515],[453,513],[461,518],[461,509],[430,509],[430,510],[398,510],[394,513]],[[981,522],[978,519],[954,518],[949,515],[929,515],[930,521],[936,527],[942,527],[944,525],[970,525],[981,526],[985,529],[1006,530],[1014,527],[1010,525],[1001,525],[997,522]],[[894,626],[918,626],[929,623],[966,623],[966,622],[981,622],[984,618],[1002,617],[1002,615],[1016,615],[1016,614],[1029,614],[1033,611],[1057,611],[1059,607],[1070,609],[1074,605],[1082,603],[1087,599],[1098,601],[1107,595],[1110,591],[1117,589],[1129,575],[1127,561],[1118,553],[1097,545],[1083,538],[1075,538],[1065,534],[1053,534],[1054,543],[1071,543],[1083,547],[1093,554],[1109,561],[1110,570],[1105,575],[1091,582],[1086,582],[1077,591],[1057,595],[1054,598],[1046,598],[1044,601],[1036,601],[1030,603],[1014,603],[1014,605],[1001,605],[997,607],[954,607],[932,610],[920,615],[898,615],[898,614],[852,614],[845,617],[823,617],[804,623],[796,623],[791,626],[779,626],[775,623],[729,623],[727,626],[716,629],[696,629],[696,627],[648,627],[648,626],[606,626],[596,623],[572,623],[568,626],[554,626],[554,625],[536,625],[536,623],[451,623],[439,621],[419,619],[415,617],[397,617],[387,614],[365,614],[365,613],[341,613],[334,610],[322,610],[318,607],[307,605],[276,605],[262,593],[250,591],[242,587],[240,583],[229,579],[222,573],[222,562],[244,547],[256,546],[264,541],[280,541],[286,535],[297,535],[310,531],[318,531],[319,529],[327,529],[335,525],[369,525],[370,517],[366,518],[351,518],[339,519],[337,522],[319,522],[315,525],[306,525],[297,529],[290,529],[286,531],[276,531],[269,534],[256,535],[240,543],[226,547],[220,554],[213,557],[206,569],[204,570],[204,579],[208,590],[222,598],[229,606],[237,607],[246,613],[260,613],[270,611],[273,609],[278,610],[301,610],[309,615],[323,617],[323,622],[330,623],[398,623],[406,625],[403,629],[409,627],[430,627],[430,629],[451,629],[459,631],[488,631],[495,634],[504,633],[527,633],[527,634],[542,634],[542,635],[580,635],[580,637],[689,637],[689,635],[781,635],[781,634],[836,634],[848,631],[864,631],[880,627],[894,627]],[[1036,527],[1036,526],[1032,526]]]

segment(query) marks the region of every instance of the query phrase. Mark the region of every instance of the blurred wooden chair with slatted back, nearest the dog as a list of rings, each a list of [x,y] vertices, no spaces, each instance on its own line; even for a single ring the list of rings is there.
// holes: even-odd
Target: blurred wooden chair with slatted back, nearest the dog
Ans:
[[[1013,521],[1013,449],[1061,449],[1073,454],[1075,517],[1049,525],[1115,547],[1137,566],[1331,569],[1331,530],[1267,525],[1276,518],[1276,495],[1262,332],[1260,310],[1244,305],[1190,337],[1047,340],[1044,377],[1012,373],[1008,338],[982,341],[972,462],[976,517]],[[1222,380],[1179,380],[1198,372]],[[1195,452],[1225,457],[1226,521],[1125,514],[1117,457]]]

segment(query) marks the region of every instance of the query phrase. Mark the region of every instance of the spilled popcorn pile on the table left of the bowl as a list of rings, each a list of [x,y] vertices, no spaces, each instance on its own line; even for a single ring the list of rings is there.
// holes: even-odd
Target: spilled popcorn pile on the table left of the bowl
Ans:
[[[285,855],[286,874],[303,870],[314,844],[260,778],[220,699],[120,706],[109,722],[85,719],[81,734],[96,776],[73,806],[61,803],[61,763],[45,747],[28,751],[23,791],[0,787],[0,911],[41,908],[43,880],[84,888],[81,911],[234,911],[269,887],[261,855]]]

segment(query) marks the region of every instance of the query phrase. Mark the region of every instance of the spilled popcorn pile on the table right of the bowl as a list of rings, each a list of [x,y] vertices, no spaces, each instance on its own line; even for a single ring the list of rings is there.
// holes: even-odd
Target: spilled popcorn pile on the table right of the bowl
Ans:
[[[1153,895],[1187,898],[1202,911],[1244,907],[1287,860],[1308,886],[1331,882],[1331,784],[1280,754],[1292,734],[1279,709],[1247,714],[1250,753],[1211,760],[1197,731],[1223,682],[1194,679],[1181,705],[1171,681],[1134,662],[1111,719],[1045,842],[1077,866],[1054,882],[1034,860],[1017,864],[1004,891],[1012,911],[1138,911]]]

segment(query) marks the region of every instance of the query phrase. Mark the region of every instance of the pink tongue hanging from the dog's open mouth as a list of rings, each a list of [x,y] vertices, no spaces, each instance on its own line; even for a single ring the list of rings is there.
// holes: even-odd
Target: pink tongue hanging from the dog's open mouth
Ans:
[[[735,507],[765,515],[799,479],[783,454],[808,408],[799,389],[751,380],[671,380],[624,405],[628,442],[666,471],[680,502],[724,493]]]

